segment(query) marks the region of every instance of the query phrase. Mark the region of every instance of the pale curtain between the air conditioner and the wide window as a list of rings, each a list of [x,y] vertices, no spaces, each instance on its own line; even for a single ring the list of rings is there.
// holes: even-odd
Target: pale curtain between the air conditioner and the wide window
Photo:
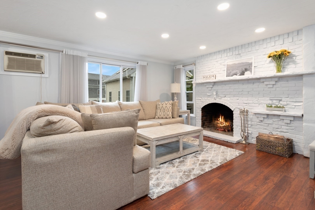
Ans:
[[[87,53],[64,49],[60,70],[60,103],[88,101]]]

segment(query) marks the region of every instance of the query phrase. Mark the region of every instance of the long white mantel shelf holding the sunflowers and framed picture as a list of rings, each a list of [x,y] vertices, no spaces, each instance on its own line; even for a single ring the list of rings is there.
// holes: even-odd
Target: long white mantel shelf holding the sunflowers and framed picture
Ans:
[[[222,79],[213,79],[213,80],[201,80],[192,82],[194,84],[209,83],[209,82],[224,82],[224,81],[238,81],[238,80],[248,80],[248,79],[261,79],[261,78],[272,78],[272,77],[291,77],[299,76],[303,74],[314,74],[315,71],[292,71],[292,72],[283,72],[283,73],[274,73],[274,74],[265,74],[265,75],[249,75],[249,76],[238,76],[238,77],[227,77]]]

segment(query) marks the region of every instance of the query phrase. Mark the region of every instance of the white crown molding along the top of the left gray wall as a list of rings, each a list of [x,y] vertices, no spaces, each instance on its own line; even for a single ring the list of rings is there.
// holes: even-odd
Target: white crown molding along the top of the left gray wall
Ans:
[[[152,61],[152,62],[157,62],[157,63],[174,65],[174,62],[152,59],[152,58],[145,57],[145,56],[129,55],[129,54],[124,54],[124,53],[119,53],[119,52],[107,51],[107,50],[103,50],[103,49],[90,48],[90,47],[86,47],[83,45],[71,44],[71,43],[66,43],[66,42],[59,42],[59,41],[54,41],[54,40],[44,39],[44,38],[38,38],[38,37],[31,37],[31,36],[27,36],[27,35],[23,35],[23,34],[16,34],[16,33],[7,32],[7,31],[0,31],[0,40],[2,40],[3,37],[17,38],[17,39],[28,40],[28,41],[32,41],[32,42],[38,42],[38,43],[45,43],[45,44],[53,44],[56,46],[60,46],[62,48],[75,48],[75,49],[86,50],[86,51],[108,54],[108,55],[115,55],[115,56],[120,56],[120,57],[125,57],[125,58],[132,58],[132,59],[137,59],[137,60],[145,60],[145,61]],[[5,41],[5,40],[3,40],[3,41]]]

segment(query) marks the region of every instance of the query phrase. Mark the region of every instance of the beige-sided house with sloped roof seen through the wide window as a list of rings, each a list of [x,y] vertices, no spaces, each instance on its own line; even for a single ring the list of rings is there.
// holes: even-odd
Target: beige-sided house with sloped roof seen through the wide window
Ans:
[[[134,101],[136,69],[123,68],[123,101]],[[120,97],[120,71],[104,81],[106,85],[106,102],[115,102]]]

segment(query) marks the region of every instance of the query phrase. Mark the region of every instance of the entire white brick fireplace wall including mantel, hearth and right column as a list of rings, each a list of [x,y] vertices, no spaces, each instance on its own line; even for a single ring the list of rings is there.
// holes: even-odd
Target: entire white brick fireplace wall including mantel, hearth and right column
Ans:
[[[233,111],[233,137],[211,132],[208,136],[236,143],[241,138],[239,109],[246,108],[250,143],[255,143],[259,132],[277,133],[293,139],[295,153],[309,156],[307,146],[315,138],[315,65],[303,53],[311,50],[314,58],[313,30],[314,25],[199,56],[194,82],[196,126],[202,126],[202,107],[210,103],[226,105]],[[267,54],[279,49],[289,49],[292,54],[284,61],[284,73],[276,74]],[[225,78],[226,61],[247,57],[254,57],[254,75]],[[202,80],[213,74],[215,80]],[[267,112],[266,104],[283,105],[286,112]]]

